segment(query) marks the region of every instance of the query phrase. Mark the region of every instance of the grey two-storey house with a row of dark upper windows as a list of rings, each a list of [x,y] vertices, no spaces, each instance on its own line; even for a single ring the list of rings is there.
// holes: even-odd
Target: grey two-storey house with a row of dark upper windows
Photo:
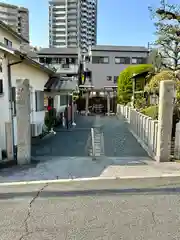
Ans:
[[[89,49],[84,70],[91,72],[91,83],[96,90],[117,86],[120,72],[132,64],[147,62],[148,49],[136,46],[97,45]]]

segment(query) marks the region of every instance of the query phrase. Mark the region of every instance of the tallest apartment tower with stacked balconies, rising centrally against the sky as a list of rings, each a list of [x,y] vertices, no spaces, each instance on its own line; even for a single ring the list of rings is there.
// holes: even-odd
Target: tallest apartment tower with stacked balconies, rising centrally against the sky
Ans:
[[[97,0],[49,2],[49,46],[78,47],[96,44]]]

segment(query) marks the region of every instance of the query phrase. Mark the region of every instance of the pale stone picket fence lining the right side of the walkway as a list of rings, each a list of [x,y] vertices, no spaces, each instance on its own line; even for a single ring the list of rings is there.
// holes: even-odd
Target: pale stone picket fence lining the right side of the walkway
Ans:
[[[117,113],[125,117],[130,130],[141,146],[155,159],[157,151],[158,120],[136,111],[132,107],[118,104]]]

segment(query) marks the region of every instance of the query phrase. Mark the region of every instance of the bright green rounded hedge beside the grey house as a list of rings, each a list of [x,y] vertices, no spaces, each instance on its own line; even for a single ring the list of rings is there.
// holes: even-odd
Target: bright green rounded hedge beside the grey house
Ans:
[[[118,103],[127,104],[132,97],[132,77],[133,74],[141,74],[151,71],[153,66],[151,64],[132,65],[124,69],[118,77]],[[140,77],[137,81],[136,91],[143,90],[141,84],[144,78]]]

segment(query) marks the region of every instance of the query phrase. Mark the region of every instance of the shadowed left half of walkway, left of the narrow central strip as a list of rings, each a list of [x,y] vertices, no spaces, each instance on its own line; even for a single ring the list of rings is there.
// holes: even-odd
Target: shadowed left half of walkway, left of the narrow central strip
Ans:
[[[41,140],[33,140],[32,156],[88,156],[87,144],[93,117],[78,116],[76,127],[56,128],[56,135]]]

